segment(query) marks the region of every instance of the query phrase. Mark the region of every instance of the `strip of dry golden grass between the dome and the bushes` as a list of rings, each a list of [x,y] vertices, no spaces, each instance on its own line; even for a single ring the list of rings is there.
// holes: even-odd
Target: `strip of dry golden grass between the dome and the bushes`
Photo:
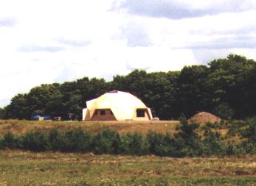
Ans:
[[[179,121],[18,121],[0,120],[0,137],[6,132],[21,135],[29,131],[49,131],[57,129],[75,129],[80,127],[90,133],[100,132],[102,129],[114,129],[120,133],[141,132],[147,134],[149,130],[155,132],[175,132]]]

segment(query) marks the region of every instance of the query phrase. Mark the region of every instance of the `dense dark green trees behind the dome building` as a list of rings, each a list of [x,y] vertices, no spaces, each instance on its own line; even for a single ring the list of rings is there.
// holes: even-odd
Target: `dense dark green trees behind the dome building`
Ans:
[[[82,118],[86,101],[110,90],[134,94],[160,119],[177,119],[196,112],[212,112],[224,119],[256,115],[256,62],[229,54],[207,65],[184,66],[181,71],[147,73],[134,70],[113,80],[84,77],[73,82],[33,87],[0,109],[0,118],[30,119],[32,115]]]

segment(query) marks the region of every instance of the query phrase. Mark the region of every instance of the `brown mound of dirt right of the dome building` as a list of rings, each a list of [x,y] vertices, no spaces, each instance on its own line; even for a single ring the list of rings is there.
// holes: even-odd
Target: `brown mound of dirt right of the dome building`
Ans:
[[[220,123],[221,118],[218,118],[216,115],[212,115],[209,112],[198,112],[192,118],[188,120],[190,123],[205,124],[210,123]]]

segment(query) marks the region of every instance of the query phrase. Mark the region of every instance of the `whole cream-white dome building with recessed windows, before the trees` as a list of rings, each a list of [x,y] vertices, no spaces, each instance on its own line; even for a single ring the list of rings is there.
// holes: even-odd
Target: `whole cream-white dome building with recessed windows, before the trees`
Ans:
[[[117,90],[86,101],[83,121],[150,121],[151,109],[131,93]]]

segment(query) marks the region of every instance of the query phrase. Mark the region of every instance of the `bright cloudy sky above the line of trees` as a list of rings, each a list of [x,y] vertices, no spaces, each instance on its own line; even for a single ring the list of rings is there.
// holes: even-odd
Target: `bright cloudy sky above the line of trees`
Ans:
[[[53,82],[256,60],[255,0],[0,0],[0,107]]]

